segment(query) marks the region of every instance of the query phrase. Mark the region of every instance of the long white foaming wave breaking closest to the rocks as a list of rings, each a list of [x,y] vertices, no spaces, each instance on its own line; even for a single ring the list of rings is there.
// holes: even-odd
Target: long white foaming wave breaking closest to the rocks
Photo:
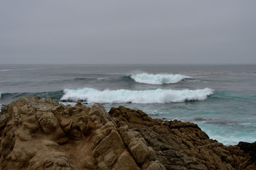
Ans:
[[[104,90],[65,89],[61,101],[87,101],[87,103],[176,103],[183,101],[203,101],[213,94],[212,89],[198,90]]]

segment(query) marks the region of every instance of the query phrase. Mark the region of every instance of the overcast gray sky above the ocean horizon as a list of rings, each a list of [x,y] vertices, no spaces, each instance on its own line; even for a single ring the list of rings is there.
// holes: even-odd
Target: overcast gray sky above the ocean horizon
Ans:
[[[0,64],[256,64],[256,1],[0,2]]]

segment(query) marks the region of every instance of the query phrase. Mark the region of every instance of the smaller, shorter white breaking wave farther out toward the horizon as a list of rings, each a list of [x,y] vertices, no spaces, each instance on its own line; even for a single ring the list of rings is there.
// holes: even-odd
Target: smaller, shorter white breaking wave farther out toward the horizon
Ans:
[[[132,74],[134,81],[142,84],[175,84],[183,79],[192,79],[192,77],[183,76],[181,74]]]

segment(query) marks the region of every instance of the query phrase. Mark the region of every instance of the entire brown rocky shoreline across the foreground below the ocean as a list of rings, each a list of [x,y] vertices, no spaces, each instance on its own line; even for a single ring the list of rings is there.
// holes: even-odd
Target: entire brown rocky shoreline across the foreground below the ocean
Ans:
[[[256,169],[256,144],[225,146],[198,125],[119,106],[21,97],[2,106],[0,169]]]

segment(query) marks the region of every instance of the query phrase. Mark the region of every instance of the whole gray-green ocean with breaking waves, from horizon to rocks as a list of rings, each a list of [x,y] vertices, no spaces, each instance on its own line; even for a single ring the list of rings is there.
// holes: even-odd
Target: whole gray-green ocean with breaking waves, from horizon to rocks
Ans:
[[[224,145],[256,141],[256,65],[0,64],[0,107],[20,96],[140,109],[198,124]]]

